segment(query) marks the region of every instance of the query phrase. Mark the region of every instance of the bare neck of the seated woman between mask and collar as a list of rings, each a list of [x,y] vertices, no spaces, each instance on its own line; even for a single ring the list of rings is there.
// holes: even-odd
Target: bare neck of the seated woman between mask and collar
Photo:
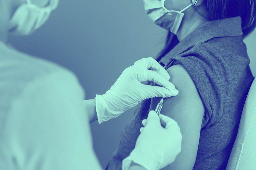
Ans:
[[[190,10],[190,14],[188,13]],[[181,26],[179,28],[179,31],[177,33],[177,37],[179,41],[183,40],[185,37],[187,37],[190,33],[192,33],[195,29],[197,29],[199,26],[206,24],[209,22],[206,18],[198,14],[197,12],[193,12],[191,15],[191,10],[194,9],[188,9],[187,13],[185,13]]]

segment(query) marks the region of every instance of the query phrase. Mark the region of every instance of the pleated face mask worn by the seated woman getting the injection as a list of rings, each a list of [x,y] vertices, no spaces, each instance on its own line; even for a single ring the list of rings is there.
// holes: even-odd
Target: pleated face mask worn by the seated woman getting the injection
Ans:
[[[147,15],[154,21],[156,25],[170,31],[173,34],[177,34],[182,18],[184,16],[183,11],[196,5],[198,0],[195,1],[195,4],[190,4],[181,11],[168,10],[164,6],[165,0],[144,0],[145,10]]]

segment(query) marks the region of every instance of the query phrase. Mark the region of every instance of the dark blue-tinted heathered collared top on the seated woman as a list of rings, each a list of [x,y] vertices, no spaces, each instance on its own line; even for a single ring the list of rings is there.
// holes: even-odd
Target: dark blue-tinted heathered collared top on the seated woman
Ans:
[[[215,20],[196,29],[160,61],[166,69],[174,64],[186,68],[205,107],[194,170],[226,168],[254,78],[242,35],[240,17]],[[149,107],[150,100],[142,102],[130,118],[107,169],[121,170]]]

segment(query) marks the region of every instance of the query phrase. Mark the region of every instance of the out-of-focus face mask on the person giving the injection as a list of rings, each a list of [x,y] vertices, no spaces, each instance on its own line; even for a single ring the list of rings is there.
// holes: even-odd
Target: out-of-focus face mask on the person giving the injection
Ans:
[[[20,5],[9,21],[9,33],[14,35],[30,35],[40,28],[49,18],[50,13],[58,6],[58,0],[50,0],[46,7],[38,7],[26,0]]]

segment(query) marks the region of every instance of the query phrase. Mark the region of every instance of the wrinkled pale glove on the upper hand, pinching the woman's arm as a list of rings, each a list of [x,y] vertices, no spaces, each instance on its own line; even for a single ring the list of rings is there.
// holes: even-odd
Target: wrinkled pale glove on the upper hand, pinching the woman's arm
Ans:
[[[98,122],[116,118],[143,100],[154,97],[176,96],[178,91],[169,82],[167,71],[152,57],[143,58],[126,68],[115,84],[104,95],[96,95]],[[144,85],[151,81],[160,86]]]

